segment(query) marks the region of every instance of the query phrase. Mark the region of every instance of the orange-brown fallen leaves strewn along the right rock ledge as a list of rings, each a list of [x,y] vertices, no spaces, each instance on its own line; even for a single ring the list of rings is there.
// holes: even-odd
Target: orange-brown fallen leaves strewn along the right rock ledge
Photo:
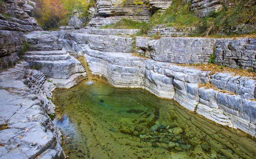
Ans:
[[[223,72],[223,73],[231,73],[231,75],[234,76],[245,76],[245,77],[251,77],[252,79],[256,80],[256,73],[251,72],[253,70],[247,69],[247,70],[242,70],[242,69],[233,69],[229,67],[225,67],[223,65],[216,65],[213,63],[208,63],[208,64],[177,64],[181,66],[186,66],[186,67],[193,67],[195,69],[199,69],[201,71],[211,71],[209,75],[213,75],[216,72]]]

